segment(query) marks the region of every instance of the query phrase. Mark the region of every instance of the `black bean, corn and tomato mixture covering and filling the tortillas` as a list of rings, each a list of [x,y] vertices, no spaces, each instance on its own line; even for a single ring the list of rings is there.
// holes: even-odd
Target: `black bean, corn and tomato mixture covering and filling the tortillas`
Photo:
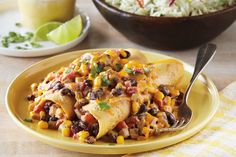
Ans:
[[[174,86],[156,83],[151,64],[129,61],[130,56],[123,49],[87,53],[68,67],[49,73],[42,83],[31,85],[32,92],[27,97],[31,119],[39,120],[41,129],[59,130],[63,136],[92,144],[96,142],[99,123],[83,106],[96,102],[101,110],[109,110],[110,98],[126,96],[130,115],[103,139],[122,144],[125,139],[148,139],[158,134],[157,129],[171,127],[183,93]],[[72,117],[56,102],[39,102],[49,91],[75,100]],[[32,122],[31,119],[26,121]]]

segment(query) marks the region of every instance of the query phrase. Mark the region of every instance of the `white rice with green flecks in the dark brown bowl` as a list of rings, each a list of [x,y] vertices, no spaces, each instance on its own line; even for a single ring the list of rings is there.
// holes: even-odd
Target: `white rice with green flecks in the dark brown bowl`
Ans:
[[[236,4],[236,0],[105,0],[126,12],[148,16],[196,16]]]

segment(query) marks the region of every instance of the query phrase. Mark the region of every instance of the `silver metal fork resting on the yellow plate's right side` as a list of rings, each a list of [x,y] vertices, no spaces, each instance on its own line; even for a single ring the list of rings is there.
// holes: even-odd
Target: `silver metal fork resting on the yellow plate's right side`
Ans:
[[[200,47],[197,55],[197,60],[195,63],[194,72],[190,83],[185,91],[182,104],[179,106],[178,109],[178,120],[175,120],[173,125],[170,128],[161,128],[156,129],[156,133],[161,132],[173,132],[173,131],[180,131],[184,129],[192,120],[192,110],[188,106],[188,97],[189,93],[192,89],[194,82],[196,81],[199,74],[203,71],[206,65],[212,60],[216,53],[216,45],[215,44],[205,44]]]

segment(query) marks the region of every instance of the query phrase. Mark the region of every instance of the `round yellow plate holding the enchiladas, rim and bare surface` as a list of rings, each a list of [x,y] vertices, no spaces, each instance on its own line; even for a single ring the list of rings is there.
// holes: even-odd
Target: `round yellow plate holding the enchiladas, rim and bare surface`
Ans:
[[[23,119],[29,116],[27,113],[28,102],[26,96],[29,94],[29,87],[33,82],[40,82],[47,73],[59,69],[61,66],[68,65],[69,62],[80,56],[81,53],[104,50],[83,50],[55,56],[43,60],[22,72],[11,83],[6,95],[7,109],[11,118],[29,134],[55,147],[94,154],[124,154],[159,149],[183,141],[199,132],[216,113],[219,106],[218,91],[210,79],[201,75],[193,86],[189,99],[189,105],[193,110],[193,119],[190,125],[180,132],[168,133],[145,141],[128,140],[123,145],[109,144],[101,141],[89,145],[79,143],[77,140],[69,137],[62,137],[58,131],[41,130],[37,128],[35,123],[31,124],[23,121]],[[157,53],[144,51],[142,53],[150,62],[170,58]],[[185,63],[184,66],[186,77],[181,84],[183,88],[187,85],[193,71],[192,66]]]

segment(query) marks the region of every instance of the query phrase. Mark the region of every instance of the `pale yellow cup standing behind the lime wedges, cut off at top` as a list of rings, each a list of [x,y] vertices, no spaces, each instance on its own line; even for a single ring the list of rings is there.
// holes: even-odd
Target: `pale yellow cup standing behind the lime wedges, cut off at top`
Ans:
[[[22,24],[37,27],[49,21],[65,22],[73,18],[76,0],[18,0]]]

